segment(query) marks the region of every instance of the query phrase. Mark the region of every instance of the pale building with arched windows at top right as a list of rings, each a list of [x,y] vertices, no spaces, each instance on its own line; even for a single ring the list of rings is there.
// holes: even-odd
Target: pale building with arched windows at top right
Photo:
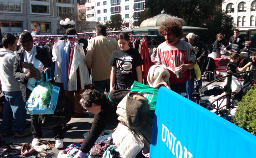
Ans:
[[[222,10],[234,18],[240,34],[250,40],[256,34],[256,0],[225,0]]]

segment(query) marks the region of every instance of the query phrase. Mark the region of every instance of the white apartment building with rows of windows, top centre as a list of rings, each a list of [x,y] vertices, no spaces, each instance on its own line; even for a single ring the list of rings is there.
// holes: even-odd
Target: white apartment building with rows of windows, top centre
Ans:
[[[85,6],[87,21],[104,23],[111,15],[120,14],[130,27],[133,23],[138,25],[136,21],[145,8],[145,0],[87,0]]]

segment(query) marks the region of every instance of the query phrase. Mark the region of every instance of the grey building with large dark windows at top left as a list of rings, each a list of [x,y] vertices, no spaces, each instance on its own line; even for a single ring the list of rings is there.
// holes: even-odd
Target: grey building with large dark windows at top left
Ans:
[[[77,0],[0,0],[0,28],[3,35],[34,29],[43,35],[56,35],[59,16],[77,14],[76,6]]]

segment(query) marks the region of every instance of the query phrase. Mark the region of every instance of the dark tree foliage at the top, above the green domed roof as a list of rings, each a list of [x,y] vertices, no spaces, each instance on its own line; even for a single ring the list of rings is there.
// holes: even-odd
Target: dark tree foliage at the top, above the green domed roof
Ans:
[[[201,27],[221,10],[222,0],[146,0],[155,16],[164,9],[166,13],[183,18],[188,26]]]

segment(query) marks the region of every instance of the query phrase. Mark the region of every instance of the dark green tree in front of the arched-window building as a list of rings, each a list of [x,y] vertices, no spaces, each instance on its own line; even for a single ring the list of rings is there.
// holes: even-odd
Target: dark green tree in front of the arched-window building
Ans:
[[[222,33],[224,35],[222,43],[227,46],[230,37],[233,36],[235,24],[232,16],[227,15],[225,12],[220,12],[217,13],[204,27],[209,30],[199,33],[202,41],[205,43],[214,43],[214,41],[216,41],[216,35]]]

